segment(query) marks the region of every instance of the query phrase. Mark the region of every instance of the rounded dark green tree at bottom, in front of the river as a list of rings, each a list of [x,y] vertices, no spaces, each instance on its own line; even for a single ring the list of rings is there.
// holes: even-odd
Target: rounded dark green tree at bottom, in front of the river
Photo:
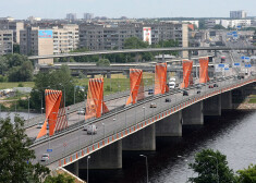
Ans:
[[[228,167],[227,157],[220,151],[204,149],[196,154],[195,162],[190,163],[190,169],[198,174],[197,178],[190,178],[193,183],[219,183],[234,182],[233,170]]]

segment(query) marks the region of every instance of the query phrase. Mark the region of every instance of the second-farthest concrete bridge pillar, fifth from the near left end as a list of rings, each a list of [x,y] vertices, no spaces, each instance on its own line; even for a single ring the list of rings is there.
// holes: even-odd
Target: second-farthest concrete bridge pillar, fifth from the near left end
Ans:
[[[221,115],[221,95],[204,100],[204,115]]]

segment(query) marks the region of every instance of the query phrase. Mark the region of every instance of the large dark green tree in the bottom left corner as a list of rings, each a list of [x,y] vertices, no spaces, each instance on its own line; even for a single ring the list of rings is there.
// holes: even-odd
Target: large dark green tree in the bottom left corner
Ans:
[[[48,168],[31,162],[35,152],[28,149],[32,141],[21,118],[16,115],[14,124],[10,118],[0,120],[0,182],[40,183],[49,174]]]

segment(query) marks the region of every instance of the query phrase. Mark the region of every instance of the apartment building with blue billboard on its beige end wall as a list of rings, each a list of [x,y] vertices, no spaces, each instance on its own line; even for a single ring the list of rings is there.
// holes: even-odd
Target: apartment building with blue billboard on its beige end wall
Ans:
[[[20,51],[26,56],[53,54],[52,29],[40,29],[39,27],[26,27],[20,32]],[[51,64],[53,59],[39,59],[39,64]]]

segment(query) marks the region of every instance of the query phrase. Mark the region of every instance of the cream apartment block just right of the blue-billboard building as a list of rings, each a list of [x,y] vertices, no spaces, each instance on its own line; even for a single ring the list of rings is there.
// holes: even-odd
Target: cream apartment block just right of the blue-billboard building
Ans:
[[[53,53],[70,52],[78,48],[80,30],[78,25],[68,24],[62,27],[52,27],[53,30]]]

